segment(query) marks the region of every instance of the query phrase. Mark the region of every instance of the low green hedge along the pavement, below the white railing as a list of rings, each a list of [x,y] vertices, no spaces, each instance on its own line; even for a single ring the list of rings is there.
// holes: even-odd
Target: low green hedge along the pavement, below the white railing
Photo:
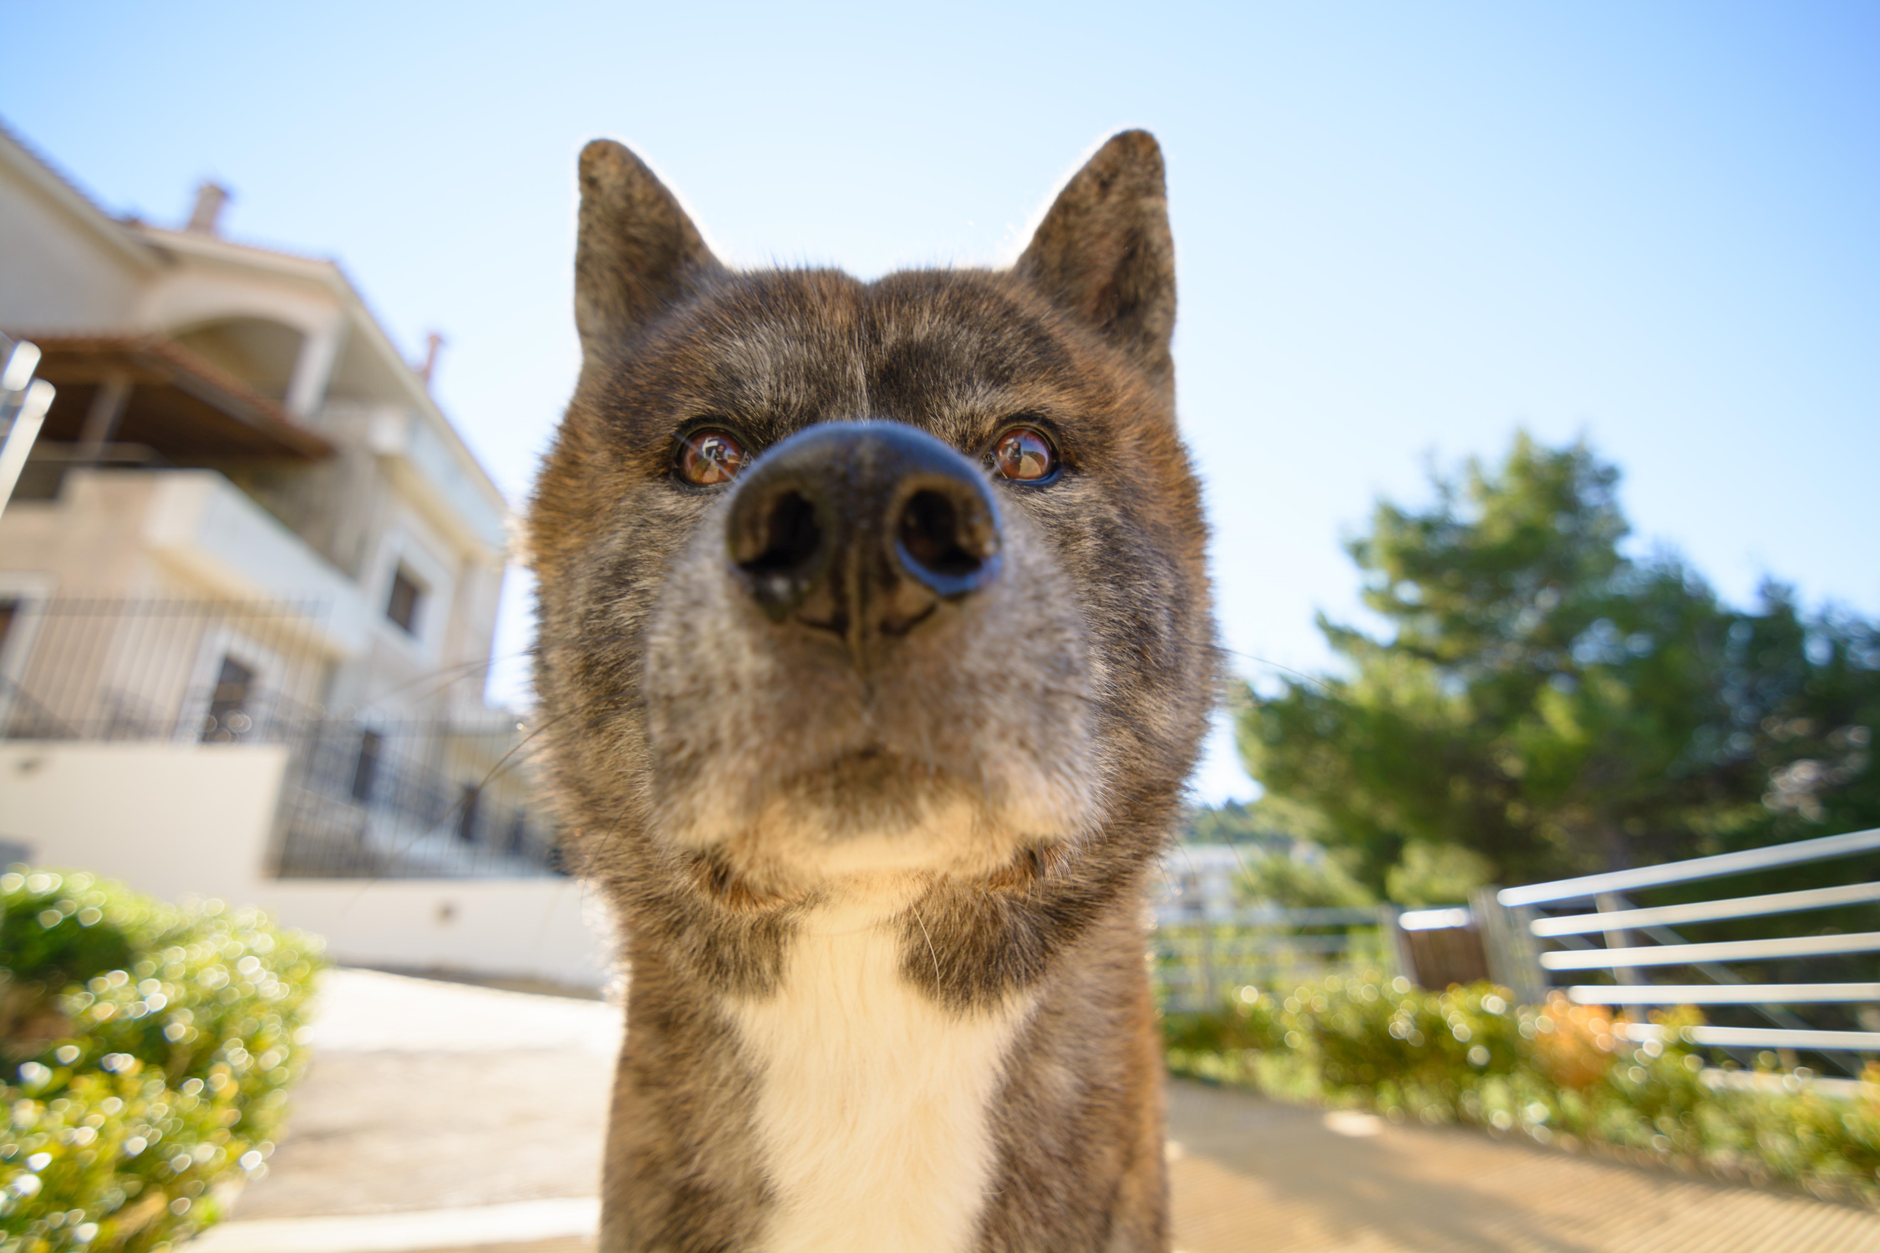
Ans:
[[[1880,1204],[1880,1082],[1835,1097],[1777,1075],[1769,1056],[1762,1082],[1718,1084],[1679,1035],[1698,1011],[1653,1020],[1666,1039],[1637,1044],[1607,1011],[1560,996],[1517,1007],[1487,982],[1425,992],[1372,973],[1284,1001],[1246,988],[1162,1026],[1177,1075]]]

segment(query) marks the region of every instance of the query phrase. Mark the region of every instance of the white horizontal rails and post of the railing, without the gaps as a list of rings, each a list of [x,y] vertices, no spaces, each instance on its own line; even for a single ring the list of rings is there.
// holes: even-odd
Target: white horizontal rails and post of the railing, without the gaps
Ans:
[[[1555,973],[1611,971],[1613,984],[1579,982],[1568,984],[1564,992],[1581,1005],[1748,1007],[1769,1026],[1698,1026],[1684,1028],[1683,1037],[1686,1043],[1701,1046],[1803,1048],[1829,1054],[1835,1060],[1833,1054],[1880,1052],[1880,1031],[1824,1031],[1790,1013],[1788,1007],[1880,1003],[1880,982],[1750,982],[1731,966],[1880,952],[1880,932],[1694,943],[1673,928],[1876,904],[1880,902],[1880,883],[1842,883],[1649,907],[1634,905],[1626,894],[1874,851],[1880,851],[1880,830],[1857,830],[1666,866],[1504,889],[1478,898],[1478,913],[1483,913],[1483,905],[1493,898],[1500,917],[1485,928],[1491,936],[1491,964],[1496,967],[1496,977],[1510,982],[1527,999],[1543,998],[1553,988]],[[1585,909],[1589,904],[1590,911]],[[1641,939],[1649,943],[1641,943]],[[1653,982],[1651,973],[1666,967],[1696,971],[1709,982]],[[1666,1035],[1666,1028],[1645,1022],[1619,1026],[1622,1035],[1636,1041]],[[1852,1073],[1854,1067],[1835,1061]]]

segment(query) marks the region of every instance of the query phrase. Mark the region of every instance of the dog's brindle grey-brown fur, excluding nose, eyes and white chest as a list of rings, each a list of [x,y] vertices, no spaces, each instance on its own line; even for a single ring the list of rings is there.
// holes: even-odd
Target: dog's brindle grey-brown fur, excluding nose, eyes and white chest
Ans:
[[[1111,139],[1013,271],[874,284],[731,272],[630,152],[596,141],[581,171],[585,366],[530,547],[555,795],[632,971],[602,1247],[758,1247],[760,1078],[724,1007],[776,992],[831,890],[818,857],[901,830],[944,843],[899,924],[902,977],[959,1014],[1036,999],[979,1249],[1166,1249],[1141,896],[1214,652],[1154,139]],[[741,596],[737,483],[671,475],[701,423],[761,451],[895,421],[978,460],[1017,419],[1051,432],[1064,473],[995,485],[998,579],[867,671]],[[951,834],[931,834],[940,813]]]

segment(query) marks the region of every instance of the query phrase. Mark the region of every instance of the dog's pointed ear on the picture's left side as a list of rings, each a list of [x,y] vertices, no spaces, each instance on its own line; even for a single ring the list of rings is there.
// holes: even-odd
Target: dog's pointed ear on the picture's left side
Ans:
[[[585,353],[630,334],[722,271],[645,162],[611,139],[581,150],[575,329]]]

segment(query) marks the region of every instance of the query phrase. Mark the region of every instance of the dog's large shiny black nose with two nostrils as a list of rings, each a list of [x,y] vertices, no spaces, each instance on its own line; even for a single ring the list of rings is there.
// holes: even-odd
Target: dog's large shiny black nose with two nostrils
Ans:
[[[970,460],[901,423],[818,423],[744,472],[726,541],[775,622],[857,657],[998,575],[998,505]]]

